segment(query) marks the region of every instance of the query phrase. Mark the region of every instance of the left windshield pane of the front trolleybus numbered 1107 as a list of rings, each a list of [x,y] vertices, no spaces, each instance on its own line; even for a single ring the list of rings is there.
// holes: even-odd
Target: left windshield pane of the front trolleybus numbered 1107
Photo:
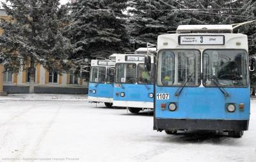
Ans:
[[[158,55],[157,84],[160,86],[200,85],[198,50],[162,50]]]

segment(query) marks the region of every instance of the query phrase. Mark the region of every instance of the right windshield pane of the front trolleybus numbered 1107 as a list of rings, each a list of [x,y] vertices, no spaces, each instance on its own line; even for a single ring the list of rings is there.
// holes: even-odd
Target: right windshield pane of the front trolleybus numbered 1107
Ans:
[[[205,50],[204,85],[244,87],[248,85],[247,53],[245,50]],[[212,82],[212,80],[214,80]]]

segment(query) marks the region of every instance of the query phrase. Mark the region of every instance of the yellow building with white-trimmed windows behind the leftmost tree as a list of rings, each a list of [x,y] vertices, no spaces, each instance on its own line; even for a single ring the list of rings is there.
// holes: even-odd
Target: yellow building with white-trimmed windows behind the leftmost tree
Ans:
[[[12,20],[6,15],[4,10],[0,9],[0,18]],[[3,30],[0,29],[0,34]],[[8,93],[28,93],[29,90],[29,75],[28,71],[20,70],[15,74],[11,71],[5,71],[0,74],[3,80],[3,90]],[[1,83],[0,83],[1,92]],[[87,83],[79,76],[74,75],[74,70],[68,73],[49,73],[45,68],[36,64],[35,72],[35,92],[36,93],[61,93],[61,94],[86,94]]]

